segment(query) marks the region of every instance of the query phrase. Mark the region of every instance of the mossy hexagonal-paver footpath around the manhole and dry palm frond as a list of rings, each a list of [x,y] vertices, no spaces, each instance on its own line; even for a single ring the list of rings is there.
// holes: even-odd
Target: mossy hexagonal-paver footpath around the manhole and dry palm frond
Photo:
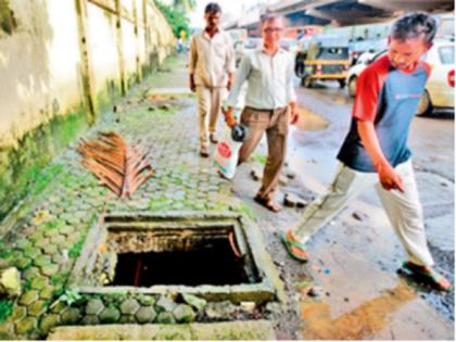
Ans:
[[[176,62],[172,59],[167,63]],[[83,168],[75,151],[77,142],[40,176],[50,182],[23,208],[24,215],[0,242],[0,266],[17,267],[23,288],[16,301],[1,302],[0,339],[43,339],[52,327],[79,322],[87,314],[66,305],[72,293],[65,292],[65,282],[89,228],[101,214],[162,210],[249,214],[231,195],[229,182],[217,176],[211,159],[198,154],[194,104],[190,105],[194,99],[188,94],[162,102],[150,98],[153,85],[167,80],[167,75],[162,72],[138,85],[116,104],[115,112],[105,113],[85,136],[91,139],[100,131],[114,130],[128,142],[140,142],[151,151],[154,176],[131,199],[116,199]],[[164,301],[156,302],[160,300]],[[142,305],[141,299],[124,297],[117,304],[118,308],[113,308],[91,301],[86,311],[93,314],[94,324],[117,321],[122,315],[125,322],[149,322],[160,316],[156,303]],[[178,315],[185,316],[186,309],[180,307]],[[169,314],[162,316],[162,322],[175,320]]]

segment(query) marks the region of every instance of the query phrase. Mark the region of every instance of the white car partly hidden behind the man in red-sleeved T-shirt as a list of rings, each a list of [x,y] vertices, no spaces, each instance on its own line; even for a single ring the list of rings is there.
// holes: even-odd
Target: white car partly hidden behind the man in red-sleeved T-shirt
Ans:
[[[354,97],[356,81],[359,74],[367,65],[383,55],[384,51],[377,54],[365,53],[359,56],[358,62],[349,69],[346,83],[349,94]],[[431,66],[431,77],[429,78],[425,92],[418,104],[417,115],[430,114],[433,109],[451,110],[454,112],[455,99],[455,43],[451,40],[435,40],[433,47],[422,58]]]

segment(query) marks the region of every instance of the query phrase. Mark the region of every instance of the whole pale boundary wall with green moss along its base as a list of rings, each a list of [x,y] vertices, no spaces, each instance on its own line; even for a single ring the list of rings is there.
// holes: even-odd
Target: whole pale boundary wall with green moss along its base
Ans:
[[[1,0],[0,12],[1,220],[175,39],[152,0]]]

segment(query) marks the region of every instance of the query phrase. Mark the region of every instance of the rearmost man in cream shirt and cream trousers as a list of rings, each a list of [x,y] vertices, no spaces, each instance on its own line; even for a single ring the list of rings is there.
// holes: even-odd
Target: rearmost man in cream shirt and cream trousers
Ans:
[[[220,7],[214,2],[208,3],[204,10],[206,27],[192,36],[190,43],[190,89],[197,91],[200,154],[203,157],[208,156],[207,136],[211,142],[217,142],[217,117],[225,99],[225,89],[231,88],[235,72],[235,50],[228,34],[218,28],[220,15]]]

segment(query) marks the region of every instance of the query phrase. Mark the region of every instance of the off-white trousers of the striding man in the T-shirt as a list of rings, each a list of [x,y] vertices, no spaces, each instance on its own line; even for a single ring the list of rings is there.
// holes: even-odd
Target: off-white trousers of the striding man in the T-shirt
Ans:
[[[375,186],[387,215],[411,262],[432,266],[426,240],[422,207],[419,202],[411,162],[395,167],[404,181],[404,193],[381,187],[377,173],[356,172],[340,164],[328,192],[314,201],[292,229],[296,240],[305,243],[320,227],[340,213],[346,203],[367,187]]]

